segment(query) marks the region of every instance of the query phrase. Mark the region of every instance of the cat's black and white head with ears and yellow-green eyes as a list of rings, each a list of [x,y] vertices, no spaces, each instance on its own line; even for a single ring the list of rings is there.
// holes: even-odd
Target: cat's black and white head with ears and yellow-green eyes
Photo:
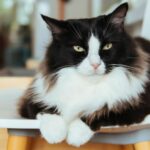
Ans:
[[[127,10],[128,4],[124,3],[111,14],[90,19],[60,21],[42,16],[53,37],[46,54],[47,70],[73,67],[91,76],[130,66],[135,53],[134,44],[124,31]]]

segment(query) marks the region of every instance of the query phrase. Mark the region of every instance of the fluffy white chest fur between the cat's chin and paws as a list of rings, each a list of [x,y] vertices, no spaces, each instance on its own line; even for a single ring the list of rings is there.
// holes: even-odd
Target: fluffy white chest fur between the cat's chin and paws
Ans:
[[[49,106],[57,106],[68,120],[78,115],[88,115],[105,104],[113,107],[118,101],[131,101],[144,92],[146,76],[126,75],[124,68],[115,68],[105,76],[82,76],[73,68],[62,69],[54,87],[46,92],[44,79],[37,76],[34,83],[35,92],[39,94],[36,101]]]

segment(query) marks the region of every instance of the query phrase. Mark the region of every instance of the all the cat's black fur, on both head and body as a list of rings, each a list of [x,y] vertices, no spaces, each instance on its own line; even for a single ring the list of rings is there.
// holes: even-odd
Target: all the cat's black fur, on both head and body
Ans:
[[[140,57],[137,52],[139,45],[147,55],[150,55],[150,42],[142,38],[131,38],[124,30],[124,18],[127,13],[127,4],[121,5],[113,13],[90,19],[72,19],[66,21],[58,21],[46,16],[42,18],[48,24],[52,31],[53,41],[47,49],[44,60],[44,72],[49,75],[56,71],[68,67],[77,66],[88,54],[87,41],[91,35],[91,31],[101,41],[101,47],[106,43],[112,43],[113,47],[109,51],[100,50],[101,59],[107,66],[106,73],[113,68],[112,64],[127,65],[133,67]],[[77,53],[73,46],[79,45],[86,51]],[[150,63],[149,63],[150,64]],[[138,68],[138,65],[136,66]],[[140,67],[140,65],[139,65]],[[128,69],[128,68],[127,68]],[[133,71],[130,70],[129,71]],[[149,68],[150,72],[150,68]],[[137,73],[136,71],[134,73]],[[150,73],[149,73],[150,77]],[[88,123],[88,118],[82,118],[93,130],[100,126],[108,125],[129,125],[141,122],[147,114],[150,114],[150,83],[145,85],[145,93],[141,94],[140,105],[134,107],[128,103],[121,104],[126,107],[123,110],[109,110],[106,104],[105,115],[95,117]],[[26,94],[34,93],[27,91]],[[26,95],[24,96],[26,97]],[[28,96],[21,105],[20,113],[23,117],[35,118],[39,112],[58,113],[57,108],[47,108],[41,103],[32,103],[34,97]],[[118,107],[119,109],[119,107]]]

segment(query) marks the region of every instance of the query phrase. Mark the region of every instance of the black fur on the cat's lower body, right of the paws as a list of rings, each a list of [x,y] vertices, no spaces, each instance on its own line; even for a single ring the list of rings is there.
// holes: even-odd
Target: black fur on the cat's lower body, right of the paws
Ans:
[[[120,110],[121,105],[118,106],[118,111],[109,110],[107,107],[105,113],[91,122],[87,122],[87,118],[82,118],[92,130],[98,130],[101,126],[113,126],[113,125],[131,125],[134,123],[140,123],[147,115],[150,115],[150,83],[146,87],[144,94],[141,94],[140,105],[132,106],[129,103],[123,103],[125,109]]]

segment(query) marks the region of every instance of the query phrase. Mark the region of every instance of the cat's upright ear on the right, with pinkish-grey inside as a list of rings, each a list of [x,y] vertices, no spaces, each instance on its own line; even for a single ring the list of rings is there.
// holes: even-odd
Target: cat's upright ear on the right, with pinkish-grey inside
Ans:
[[[123,3],[117,7],[111,14],[111,22],[115,25],[123,25],[128,11],[128,3]]]

